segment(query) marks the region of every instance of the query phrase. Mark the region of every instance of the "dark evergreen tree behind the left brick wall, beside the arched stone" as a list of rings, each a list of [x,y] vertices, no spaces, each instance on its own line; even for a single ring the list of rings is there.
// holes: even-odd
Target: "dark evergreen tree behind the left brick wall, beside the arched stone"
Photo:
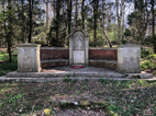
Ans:
[[[51,30],[48,33],[49,45],[54,47],[64,47],[66,39],[67,28],[67,13],[64,10],[65,1],[53,1],[53,8],[55,10],[55,18],[52,21]],[[62,11],[62,12],[60,12]]]

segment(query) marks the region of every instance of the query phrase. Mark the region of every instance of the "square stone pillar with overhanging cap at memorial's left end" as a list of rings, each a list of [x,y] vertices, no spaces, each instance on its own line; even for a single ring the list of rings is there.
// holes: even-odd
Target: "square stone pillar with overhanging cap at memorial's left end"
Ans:
[[[18,72],[40,72],[40,46],[36,44],[20,44],[18,47]]]

